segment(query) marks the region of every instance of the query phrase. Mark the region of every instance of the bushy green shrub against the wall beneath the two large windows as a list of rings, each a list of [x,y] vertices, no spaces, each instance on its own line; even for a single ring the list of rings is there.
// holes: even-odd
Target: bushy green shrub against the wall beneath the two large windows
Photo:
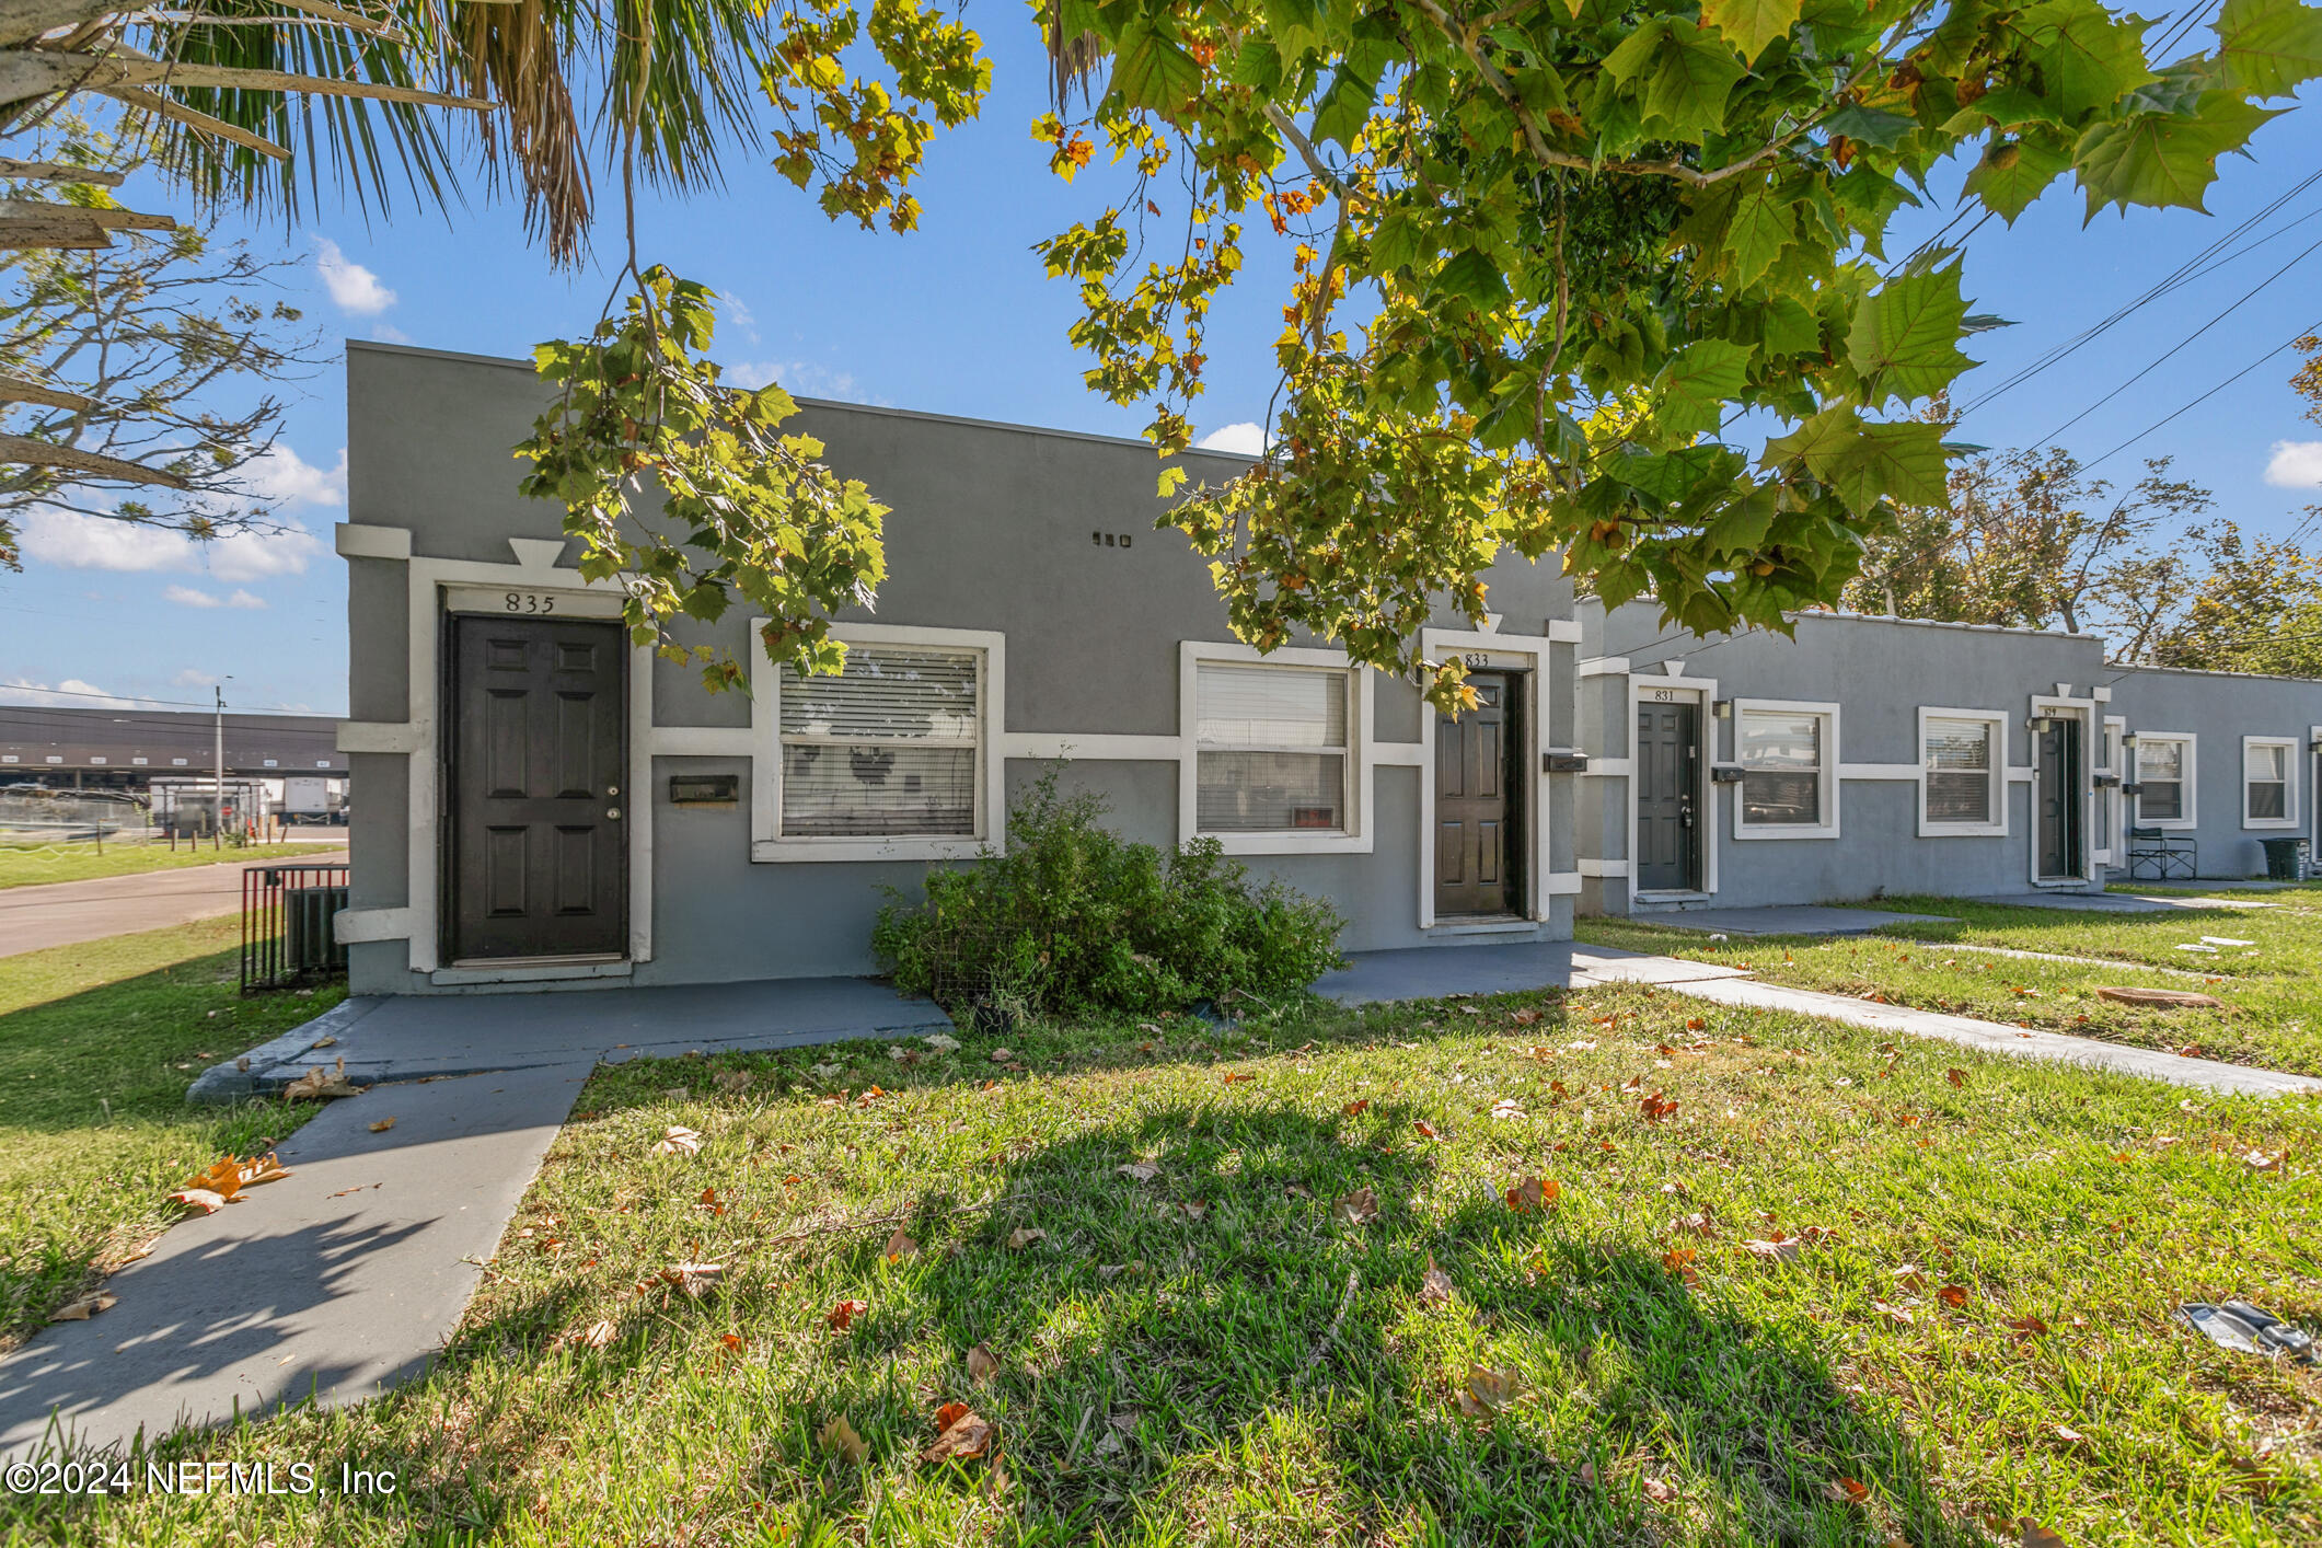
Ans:
[[[926,875],[926,898],[889,889],[871,947],[896,989],[947,1012],[1152,1014],[1196,1000],[1282,1005],[1340,965],[1344,924],[1279,882],[1252,889],[1217,840],[1184,849],[1124,840],[1091,794],[1043,777],[1008,815],[1008,852]]]

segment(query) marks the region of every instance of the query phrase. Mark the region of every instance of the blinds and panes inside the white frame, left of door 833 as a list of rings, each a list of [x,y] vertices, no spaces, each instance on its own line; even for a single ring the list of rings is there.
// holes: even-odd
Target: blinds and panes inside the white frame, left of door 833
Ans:
[[[1347,673],[1203,664],[1194,710],[1200,833],[1347,831]]]

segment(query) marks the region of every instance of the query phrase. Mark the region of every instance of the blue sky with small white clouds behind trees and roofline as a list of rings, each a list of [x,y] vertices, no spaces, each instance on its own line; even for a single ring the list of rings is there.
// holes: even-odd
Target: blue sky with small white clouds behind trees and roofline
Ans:
[[[736,153],[722,193],[641,209],[641,258],[717,288],[729,313],[720,357],[799,395],[1135,434],[1142,415],[1080,385],[1084,362],[1066,341],[1073,290],[1047,281],[1031,253],[1101,209],[1105,181],[1084,174],[1066,188],[1026,137],[1045,109],[1045,63],[1022,7],[971,7],[973,21],[987,28],[994,91],[978,123],[938,135],[915,234],[831,225],[764,158]],[[2083,225],[2078,193],[2057,186],[2015,227],[1985,223],[1967,244],[1967,290],[1981,311],[2018,325],[1971,341],[1985,364],[1962,381],[1957,402],[1976,404],[2322,174],[2322,93],[2306,95],[2306,107],[2257,135],[2255,160],[2224,162],[2208,216],[2134,211]],[[1930,209],[1904,216],[1890,253],[1944,227],[1950,186],[1939,181],[1937,193]],[[137,207],[170,202],[146,195]],[[353,337],[525,355],[594,323],[608,288],[601,265],[550,272],[525,244],[520,211],[481,193],[448,218],[406,204],[365,220],[346,207],[295,227],[230,218],[225,230],[300,258],[295,299],[325,330],[325,353]],[[613,225],[599,237],[618,241]],[[2234,246],[2245,251],[1976,406],[1962,439],[2055,441],[2099,457],[2322,325],[2322,179]],[[1261,241],[1245,283],[1214,311],[1210,392],[1196,406],[1203,434],[1233,425],[1254,434],[1263,418],[1284,272],[1284,251]],[[2173,455],[2180,476],[2215,492],[2222,515],[2255,531],[2287,529],[2322,501],[2322,425],[2301,418],[2289,369],[2287,350],[2271,355],[2099,471],[2134,478],[2141,457]],[[118,694],[207,706],[209,685],[230,673],[235,706],[344,712],[346,585],[330,550],[330,527],[344,518],[341,367],[295,383],[293,397],[286,455],[267,478],[302,531],[193,550],[153,534],[30,525],[26,571],[0,576],[0,699],[102,703],[88,694]]]

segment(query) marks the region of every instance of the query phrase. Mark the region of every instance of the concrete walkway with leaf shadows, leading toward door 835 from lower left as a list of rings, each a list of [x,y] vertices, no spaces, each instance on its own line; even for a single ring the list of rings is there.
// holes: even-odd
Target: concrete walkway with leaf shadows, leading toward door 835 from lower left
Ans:
[[[0,1358],[0,1460],[160,1439],[427,1369],[532,1186],[590,1061],[378,1086],[281,1146],[290,1177],[193,1216],[121,1302]],[[374,1135],[372,1123],[395,1119]]]

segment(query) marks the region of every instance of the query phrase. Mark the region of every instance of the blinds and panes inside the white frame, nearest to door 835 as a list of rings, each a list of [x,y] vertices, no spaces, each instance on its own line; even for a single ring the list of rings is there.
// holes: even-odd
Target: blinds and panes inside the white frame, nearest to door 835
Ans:
[[[848,645],[783,668],[783,838],[975,838],[982,654]]]

